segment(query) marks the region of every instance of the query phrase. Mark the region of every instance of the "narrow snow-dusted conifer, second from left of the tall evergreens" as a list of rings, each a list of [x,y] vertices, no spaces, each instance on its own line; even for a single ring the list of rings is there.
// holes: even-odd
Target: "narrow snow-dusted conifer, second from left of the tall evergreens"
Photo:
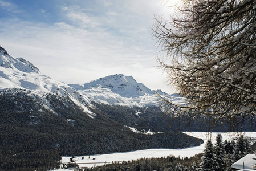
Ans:
[[[220,133],[218,133],[216,137],[215,154],[217,163],[216,170],[225,170],[225,149]]]

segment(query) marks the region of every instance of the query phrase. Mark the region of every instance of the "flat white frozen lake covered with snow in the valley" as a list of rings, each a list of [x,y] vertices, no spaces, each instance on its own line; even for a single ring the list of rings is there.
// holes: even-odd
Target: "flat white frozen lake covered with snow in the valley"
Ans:
[[[75,157],[73,160],[80,167],[94,167],[95,165],[104,165],[105,162],[112,161],[128,161],[128,160],[137,160],[139,158],[151,158],[151,157],[166,157],[166,156],[180,156],[180,157],[192,157],[195,154],[201,153],[204,150],[206,140],[212,140],[212,143],[215,143],[215,137],[218,133],[207,134],[205,132],[184,132],[190,136],[198,137],[204,140],[204,143],[200,146],[195,146],[191,148],[184,149],[147,149],[147,150],[136,150],[133,152],[121,152],[121,153],[112,153],[112,154],[98,154],[92,156],[79,156]],[[229,140],[235,137],[235,133],[221,133],[223,140]],[[256,139],[256,132],[245,132],[244,136],[254,137]],[[70,161],[71,157],[63,156],[62,162],[67,163]],[[64,170],[64,169],[58,169]]]

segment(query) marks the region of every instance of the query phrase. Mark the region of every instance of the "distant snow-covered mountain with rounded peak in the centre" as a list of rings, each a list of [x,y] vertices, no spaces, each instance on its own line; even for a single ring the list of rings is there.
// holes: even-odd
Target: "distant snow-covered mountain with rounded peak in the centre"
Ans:
[[[85,84],[68,84],[88,99],[97,103],[148,106],[156,105],[159,97],[142,83],[137,83],[132,76],[115,74]],[[167,94],[157,90],[160,95]]]

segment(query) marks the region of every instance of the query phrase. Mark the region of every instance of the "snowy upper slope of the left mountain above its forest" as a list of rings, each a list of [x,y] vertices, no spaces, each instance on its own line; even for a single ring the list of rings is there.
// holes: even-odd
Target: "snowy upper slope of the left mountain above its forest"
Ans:
[[[0,90],[6,88],[29,89],[36,94],[44,92],[68,96],[68,99],[79,105],[85,112],[91,113],[86,107],[90,103],[85,96],[80,95],[67,84],[43,75],[38,68],[25,59],[14,58],[0,46]]]

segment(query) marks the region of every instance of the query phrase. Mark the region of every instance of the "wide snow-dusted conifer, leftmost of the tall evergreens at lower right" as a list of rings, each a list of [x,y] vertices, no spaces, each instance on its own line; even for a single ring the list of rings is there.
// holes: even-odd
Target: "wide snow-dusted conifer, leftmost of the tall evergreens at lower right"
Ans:
[[[216,158],[214,154],[213,144],[210,140],[206,142],[203,156],[201,158],[200,170],[214,171],[216,170]]]

